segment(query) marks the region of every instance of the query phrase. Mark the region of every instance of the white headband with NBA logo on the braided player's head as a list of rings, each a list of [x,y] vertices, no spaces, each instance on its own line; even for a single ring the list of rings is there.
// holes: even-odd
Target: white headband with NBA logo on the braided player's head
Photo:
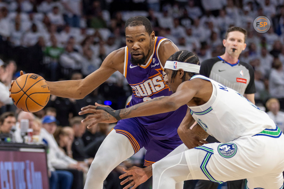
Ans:
[[[200,65],[167,60],[164,68],[171,70],[183,69],[183,71],[199,73]]]

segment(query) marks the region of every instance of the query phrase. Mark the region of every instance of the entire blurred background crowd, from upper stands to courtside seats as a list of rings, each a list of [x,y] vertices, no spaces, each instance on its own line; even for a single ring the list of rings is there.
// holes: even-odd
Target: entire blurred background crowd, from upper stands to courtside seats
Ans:
[[[132,90],[123,75],[114,73],[84,99],[51,96],[45,109],[34,114],[16,110],[8,86],[19,70],[49,81],[86,77],[110,52],[126,46],[124,24],[136,15],[146,16],[156,36],[170,39],[180,50],[193,51],[200,62],[224,53],[222,39],[230,26],[243,27],[248,31],[247,47],[239,59],[254,68],[256,105],[270,111],[271,117],[284,110],[284,0],[0,0],[1,133],[16,125],[13,132],[17,135],[15,115],[18,122],[21,114],[30,117],[26,118],[34,135],[54,148],[49,170],[55,174],[55,169],[71,168],[84,175],[113,126],[99,124],[85,130],[78,112],[95,102],[124,108]],[[252,25],[260,15],[272,23],[263,34]],[[15,118],[6,129],[5,116]],[[284,115],[278,114],[275,122],[284,128]],[[42,133],[49,137],[45,139]],[[121,167],[140,165],[141,159],[143,152]],[[109,176],[106,188],[119,182],[121,167]],[[75,179],[76,174],[65,176]]]

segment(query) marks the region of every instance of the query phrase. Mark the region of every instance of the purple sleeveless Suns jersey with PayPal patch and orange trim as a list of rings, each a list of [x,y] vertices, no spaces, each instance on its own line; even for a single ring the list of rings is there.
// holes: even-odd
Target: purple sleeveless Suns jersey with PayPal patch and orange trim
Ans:
[[[158,48],[164,37],[155,37],[154,52],[145,65],[135,66],[130,62],[131,54],[125,47],[124,77],[130,84],[133,94],[127,107],[151,100],[155,97],[169,96],[172,92],[164,82],[158,57]],[[170,55],[169,55],[170,56]],[[149,107],[151,109],[151,107]],[[137,117],[138,121],[149,131],[149,134],[158,140],[171,138],[177,134],[177,128],[186,114],[187,106],[184,105],[176,111],[156,114],[152,116]]]

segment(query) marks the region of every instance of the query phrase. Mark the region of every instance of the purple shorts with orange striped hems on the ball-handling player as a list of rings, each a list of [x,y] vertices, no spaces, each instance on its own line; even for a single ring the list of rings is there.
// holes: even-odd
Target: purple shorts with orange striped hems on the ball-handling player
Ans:
[[[161,127],[163,126],[161,125]],[[142,147],[147,150],[144,160],[145,166],[159,161],[182,144],[178,133],[169,139],[154,139],[137,118],[120,120],[114,129],[116,133],[121,133],[129,139],[134,153],[138,152]]]

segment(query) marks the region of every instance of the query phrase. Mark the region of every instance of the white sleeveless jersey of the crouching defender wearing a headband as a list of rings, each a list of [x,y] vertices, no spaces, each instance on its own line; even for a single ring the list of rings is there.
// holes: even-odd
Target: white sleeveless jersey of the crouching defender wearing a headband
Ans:
[[[189,107],[190,113],[218,141],[226,143],[242,136],[256,135],[264,129],[275,130],[273,120],[235,90],[202,75],[195,75],[190,80],[195,78],[210,81],[213,92],[205,104]],[[266,135],[273,135],[273,130],[264,132]]]

